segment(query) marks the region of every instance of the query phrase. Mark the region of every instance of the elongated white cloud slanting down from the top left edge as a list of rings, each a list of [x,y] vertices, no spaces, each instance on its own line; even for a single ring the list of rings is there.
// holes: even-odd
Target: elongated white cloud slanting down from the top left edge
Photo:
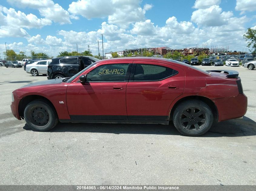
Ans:
[[[68,11],[52,0],[8,0],[8,2],[23,8],[38,9],[41,16],[55,23],[71,24]]]

